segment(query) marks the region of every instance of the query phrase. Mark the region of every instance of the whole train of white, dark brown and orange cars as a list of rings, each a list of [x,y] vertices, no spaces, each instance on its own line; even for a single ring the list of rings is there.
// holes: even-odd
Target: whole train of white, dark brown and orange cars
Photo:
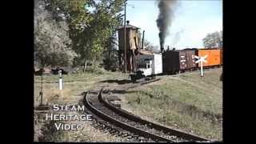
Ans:
[[[157,74],[178,74],[186,70],[198,70],[195,56],[207,55],[204,67],[222,66],[222,49],[184,49],[166,50],[162,54],[138,54],[135,56],[137,70],[130,74],[132,82],[137,79],[155,78]]]

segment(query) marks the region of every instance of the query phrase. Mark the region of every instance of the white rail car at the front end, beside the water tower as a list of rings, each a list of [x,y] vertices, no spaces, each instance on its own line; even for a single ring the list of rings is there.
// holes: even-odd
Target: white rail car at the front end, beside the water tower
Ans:
[[[136,82],[139,78],[155,78],[162,73],[162,54],[138,54],[135,56],[137,70],[130,74],[131,80]]]

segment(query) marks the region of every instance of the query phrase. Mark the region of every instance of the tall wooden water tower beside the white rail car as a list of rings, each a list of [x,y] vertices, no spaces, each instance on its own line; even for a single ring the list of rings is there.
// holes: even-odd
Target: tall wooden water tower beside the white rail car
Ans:
[[[119,70],[126,70],[128,73],[136,70],[135,66],[135,55],[138,54],[141,47],[141,34],[139,28],[131,26],[129,21],[126,24],[126,42],[124,36],[124,26],[118,28],[118,59],[119,59]],[[126,50],[124,50],[126,43]],[[125,55],[126,51],[126,55]],[[126,58],[126,61],[125,61]],[[126,65],[125,65],[126,62]]]

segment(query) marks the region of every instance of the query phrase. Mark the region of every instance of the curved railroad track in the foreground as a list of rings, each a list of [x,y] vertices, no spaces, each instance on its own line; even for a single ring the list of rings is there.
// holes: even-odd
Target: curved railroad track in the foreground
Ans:
[[[122,137],[135,142],[210,142],[209,139],[148,122],[119,109],[111,104],[102,92],[103,88],[96,95],[86,93],[83,99],[85,106],[95,114],[96,119],[100,119],[99,122],[103,123],[102,129],[106,127],[107,130],[118,133],[118,136],[121,133]]]

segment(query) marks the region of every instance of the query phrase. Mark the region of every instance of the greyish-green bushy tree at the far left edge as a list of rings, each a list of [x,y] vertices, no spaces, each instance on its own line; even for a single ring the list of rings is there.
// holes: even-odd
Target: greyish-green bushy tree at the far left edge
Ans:
[[[71,66],[76,56],[66,32],[66,22],[55,22],[43,1],[34,7],[34,62],[44,66]]]

